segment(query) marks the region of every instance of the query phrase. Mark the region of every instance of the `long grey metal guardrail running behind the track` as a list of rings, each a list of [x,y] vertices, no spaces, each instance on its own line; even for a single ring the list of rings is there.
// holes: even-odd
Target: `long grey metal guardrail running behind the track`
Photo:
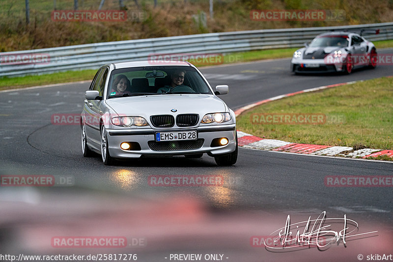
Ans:
[[[57,48],[0,53],[0,77],[49,74],[61,71],[96,69],[111,62],[147,60],[157,53],[230,53],[273,48],[301,47],[316,35],[329,30],[379,29],[379,34],[365,37],[370,41],[393,39],[393,23],[327,26],[286,29],[263,29],[186,36],[161,37],[95,43]],[[49,56],[47,63],[6,64],[9,55]]]

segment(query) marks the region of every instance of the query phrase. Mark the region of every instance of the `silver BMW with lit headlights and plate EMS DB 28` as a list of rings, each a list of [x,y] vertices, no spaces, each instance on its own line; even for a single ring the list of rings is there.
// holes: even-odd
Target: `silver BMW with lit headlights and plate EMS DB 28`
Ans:
[[[142,156],[214,157],[218,165],[237,160],[234,112],[185,61],[121,62],[102,66],[85,92],[81,114],[84,157],[104,164]]]

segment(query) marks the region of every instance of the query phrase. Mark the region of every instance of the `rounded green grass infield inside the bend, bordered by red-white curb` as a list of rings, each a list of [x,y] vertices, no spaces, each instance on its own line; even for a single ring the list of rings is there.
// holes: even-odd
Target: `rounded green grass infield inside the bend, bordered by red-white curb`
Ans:
[[[393,149],[392,93],[393,78],[380,78],[300,94],[244,112],[237,118],[237,129],[293,143]],[[326,122],[260,124],[260,118],[253,123],[254,113],[322,113]]]

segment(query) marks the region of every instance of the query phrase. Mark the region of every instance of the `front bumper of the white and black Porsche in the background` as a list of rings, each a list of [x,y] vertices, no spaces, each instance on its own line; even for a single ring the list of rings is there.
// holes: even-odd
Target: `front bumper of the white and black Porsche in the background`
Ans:
[[[309,64],[319,64],[318,67],[308,67]],[[324,59],[293,59],[291,71],[295,73],[336,73],[344,69],[344,64],[326,64]]]

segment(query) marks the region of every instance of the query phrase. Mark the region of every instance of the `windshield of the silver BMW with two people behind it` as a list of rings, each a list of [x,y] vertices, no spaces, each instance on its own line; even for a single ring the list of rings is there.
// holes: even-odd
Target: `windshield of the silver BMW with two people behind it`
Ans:
[[[195,68],[132,67],[112,71],[107,98],[138,95],[212,94]]]

